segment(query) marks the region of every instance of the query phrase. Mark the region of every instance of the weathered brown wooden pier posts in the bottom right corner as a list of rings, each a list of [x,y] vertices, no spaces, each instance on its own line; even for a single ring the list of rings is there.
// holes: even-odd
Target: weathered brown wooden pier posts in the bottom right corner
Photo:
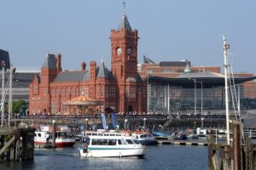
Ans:
[[[209,170],[256,170],[256,145],[249,138],[242,139],[239,122],[230,125],[230,144],[216,144],[212,137],[209,139]]]

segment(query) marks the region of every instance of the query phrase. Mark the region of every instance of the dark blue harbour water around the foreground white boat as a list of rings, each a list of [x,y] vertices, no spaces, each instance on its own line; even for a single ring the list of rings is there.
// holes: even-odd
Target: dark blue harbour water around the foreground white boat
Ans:
[[[162,145],[146,150],[144,159],[80,158],[77,148],[35,150],[34,161],[0,162],[0,170],[206,170],[207,147]]]

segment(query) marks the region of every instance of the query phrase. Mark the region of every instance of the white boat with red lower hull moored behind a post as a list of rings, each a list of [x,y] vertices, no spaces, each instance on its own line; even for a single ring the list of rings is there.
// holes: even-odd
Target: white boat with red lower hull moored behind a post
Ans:
[[[52,144],[52,127],[41,126],[35,132],[34,143],[39,146]],[[55,147],[72,147],[75,139],[67,126],[55,127]]]

